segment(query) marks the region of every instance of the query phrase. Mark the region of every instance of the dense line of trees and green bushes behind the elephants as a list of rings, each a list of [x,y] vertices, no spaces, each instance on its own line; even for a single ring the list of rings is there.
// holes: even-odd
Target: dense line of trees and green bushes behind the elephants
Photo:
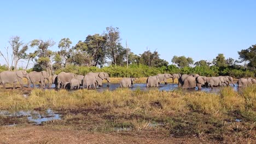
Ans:
[[[125,47],[120,43],[119,33],[119,28],[107,27],[102,34],[88,35],[85,40],[79,40],[74,46],[71,46],[73,43],[69,38],[63,38],[57,45],[59,51],[50,50],[56,44],[50,39],[34,39],[25,44],[20,37],[11,37],[11,49],[5,47],[5,51],[0,51],[0,56],[6,62],[0,66],[0,71],[19,69],[17,65],[20,59],[26,59],[26,69],[28,63],[33,62],[33,68],[27,71],[46,70],[49,74],[58,74],[61,71],[75,74],[106,71],[111,77],[144,77],[159,73],[233,77],[253,77],[256,74],[256,45],[239,51],[239,61],[226,59],[220,53],[212,62],[194,62],[191,57],[174,56],[173,64],[169,64],[160,58],[156,50],[147,50],[139,55],[131,52],[127,42]],[[26,53],[32,47],[36,50]],[[240,65],[242,62],[246,64]]]

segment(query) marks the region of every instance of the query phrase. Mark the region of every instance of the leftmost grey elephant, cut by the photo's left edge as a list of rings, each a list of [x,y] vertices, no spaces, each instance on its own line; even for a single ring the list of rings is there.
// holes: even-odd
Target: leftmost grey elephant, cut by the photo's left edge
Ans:
[[[6,83],[13,83],[13,89],[15,89],[16,83],[19,82],[21,89],[23,89],[23,77],[29,79],[27,71],[25,70],[3,71],[2,73],[0,73],[0,83],[3,85],[3,88],[5,88]]]

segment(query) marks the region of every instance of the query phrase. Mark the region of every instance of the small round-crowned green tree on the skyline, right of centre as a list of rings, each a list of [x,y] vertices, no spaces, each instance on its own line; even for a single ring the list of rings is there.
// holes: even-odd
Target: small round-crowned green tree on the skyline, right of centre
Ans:
[[[189,65],[193,64],[194,61],[190,57],[186,58],[185,56],[181,56],[181,57],[173,56],[172,63],[177,64],[178,67],[181,69],[184,67],[189,67]]]

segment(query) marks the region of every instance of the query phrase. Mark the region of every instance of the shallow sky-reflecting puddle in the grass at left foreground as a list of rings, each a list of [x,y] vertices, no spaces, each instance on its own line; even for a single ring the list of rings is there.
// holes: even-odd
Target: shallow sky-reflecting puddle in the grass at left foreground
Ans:
[[[33,122],[35,124],[42,124],[43,122],[53,121],[57,119],[61,119],[61,115],[55,113],[53,110],[48,109],[45,111],[18,111],[18,112],[9,112],[6,110],[0,110],[0,116],[8,116],[8,117],[27,117],[27,120]],[[9,127],[13,127],[16,124],[8,125]]]

